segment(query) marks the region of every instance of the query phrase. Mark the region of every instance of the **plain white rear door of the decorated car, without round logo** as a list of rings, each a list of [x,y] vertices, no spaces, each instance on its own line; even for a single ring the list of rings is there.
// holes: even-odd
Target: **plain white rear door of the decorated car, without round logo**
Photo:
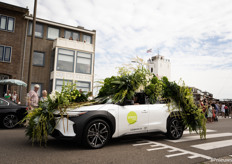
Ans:
[[[150,104],[148,132],[166,131],[167,117],[169,115],[166,104]]]

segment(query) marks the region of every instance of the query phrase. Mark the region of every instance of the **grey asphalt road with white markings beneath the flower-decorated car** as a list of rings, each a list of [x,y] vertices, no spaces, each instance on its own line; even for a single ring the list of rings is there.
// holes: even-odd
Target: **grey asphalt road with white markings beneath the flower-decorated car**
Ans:
[[[226,160],[232,163],[232,156],[229,156],[232,155],[232,119],[221,118],[219,122],[208,123],[207,129],[207,140],[200,140],[196,134],[188,133],[177,143],[167,140],[163,135],[130,136],[113,139],[107,146],[97,150],[88,150],[73,142],[53,138],[49,138],[47,147],[32,146],[25,137],[25,128],[0,129],[0,163],[177,164],[211,163],[212,160],[223,164]]]

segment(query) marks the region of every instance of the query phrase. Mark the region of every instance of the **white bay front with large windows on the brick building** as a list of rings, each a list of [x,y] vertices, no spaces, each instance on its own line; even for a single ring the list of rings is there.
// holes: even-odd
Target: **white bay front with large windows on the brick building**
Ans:
[[[63,81],[76,83],[82,91],[93,90],[94,44],[57,38],[53,42],[52,90],[60,91]]]

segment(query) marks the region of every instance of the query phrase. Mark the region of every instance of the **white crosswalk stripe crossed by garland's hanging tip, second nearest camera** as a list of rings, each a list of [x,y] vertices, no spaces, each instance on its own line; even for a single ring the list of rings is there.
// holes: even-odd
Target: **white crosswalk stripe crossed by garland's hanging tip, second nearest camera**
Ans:
[[[208,134],[206,135],[206,138],[209,139],[209,138],[228,137],[228,136],[232,136],[232,133]],[[199,135],[198,136],[183,136],[179,140],[167,140],[167,141],[178,143],[178,142],[186,142],[186,141],[193,141],[193,140],[200,140],[200,136]]]

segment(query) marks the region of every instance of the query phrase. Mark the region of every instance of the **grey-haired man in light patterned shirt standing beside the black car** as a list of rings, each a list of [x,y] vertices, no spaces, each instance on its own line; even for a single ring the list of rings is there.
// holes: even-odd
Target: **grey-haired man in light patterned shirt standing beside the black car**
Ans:
[[[36,84],[34,86],[34,90],[30,90],[28,94],[28,106],[29,110],[33,110],[34,108],[37,108],[39,106],[39,96],[38,96],[38,90],[39,90],[39,85]]]

